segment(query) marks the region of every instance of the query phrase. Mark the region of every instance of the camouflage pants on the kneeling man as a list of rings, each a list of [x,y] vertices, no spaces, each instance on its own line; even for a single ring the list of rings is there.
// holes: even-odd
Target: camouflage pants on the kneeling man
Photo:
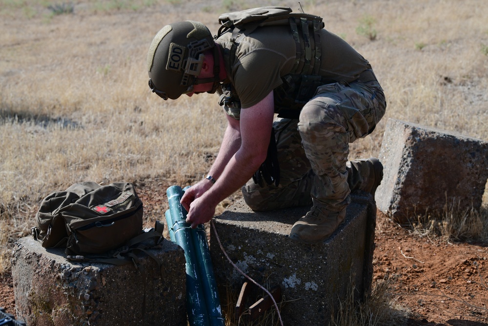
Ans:
[[[280,184],[264,188],[249,180],[242,192],[255,211],[319,205],[341,211],[350,202],[346,162],[349,143],[366,137],[385,114],[378,82],[345,82],[317,88],[300,118],[275,128]]]

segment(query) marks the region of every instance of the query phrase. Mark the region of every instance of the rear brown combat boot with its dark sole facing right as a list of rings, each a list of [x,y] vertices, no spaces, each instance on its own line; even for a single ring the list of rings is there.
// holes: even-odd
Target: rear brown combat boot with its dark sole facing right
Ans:
[[[376,188],[383,179],[383,164],[376,157],[346,163],[347,183],[351,193],[361,190],[374,197]]]

